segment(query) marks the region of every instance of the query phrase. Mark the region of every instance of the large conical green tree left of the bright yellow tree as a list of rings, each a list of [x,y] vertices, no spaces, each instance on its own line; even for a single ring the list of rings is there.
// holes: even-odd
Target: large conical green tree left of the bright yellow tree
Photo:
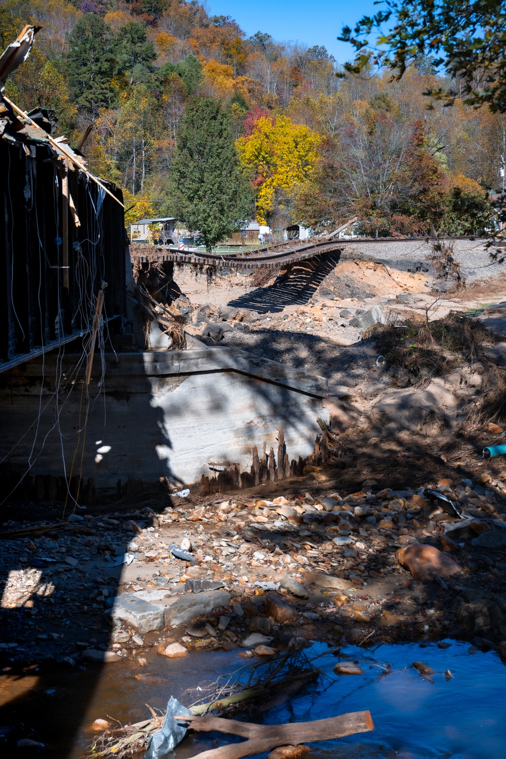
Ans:
[[[181,119],[167,188],[168,211],[206,249],[251,218],[253,201],[239,161],[228,113],[219,100],[190,99]]]

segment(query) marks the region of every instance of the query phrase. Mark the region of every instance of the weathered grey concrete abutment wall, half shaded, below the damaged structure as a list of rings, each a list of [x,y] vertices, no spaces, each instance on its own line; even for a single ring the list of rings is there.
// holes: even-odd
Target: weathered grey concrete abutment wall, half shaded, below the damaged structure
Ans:
[[[76,446],[83,444],[86,366],[82,361],[76,373],[79,359],[67,355],[58,364],[47,355],[43,383],[40,359],[0,375],[6,473],[27,471],[36,437],[30,474],[68,476]],[[266,442],[277,450],[280,427],[289,457],[297,459],[313,448],[316,417],[328,414],[322,409],[325,379],[234,348],[105,354],[102,386],[99,375],[97,356],[82,466],[83,480],[93,477],[97,489],[128,478],[191,483],[225,461],[249,468],[254,445],[261,449]]]

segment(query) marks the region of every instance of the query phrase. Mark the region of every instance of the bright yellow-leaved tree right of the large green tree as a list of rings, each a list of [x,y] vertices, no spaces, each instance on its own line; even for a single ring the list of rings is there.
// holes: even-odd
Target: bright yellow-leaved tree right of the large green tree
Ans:
[[[256,219],[267,223],[278,190],[293,194],[309,179],[318,159],[322,138],[302,124],[294,124],[287,116],[262,116],[248,137],[237,140],[240,160],[245,172],[253,176],[256,192]]]

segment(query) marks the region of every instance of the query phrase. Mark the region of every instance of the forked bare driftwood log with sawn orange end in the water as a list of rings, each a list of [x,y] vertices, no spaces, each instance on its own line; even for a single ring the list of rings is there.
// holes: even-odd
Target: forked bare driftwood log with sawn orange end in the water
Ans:
[[[202,751],[191,759],[242,759],[254,754],[263,754],[279,746],[299,745],[313,741],[328,741],[344,738],[357,732],[374,729],[369,711],[350,712],[332,716],[328,720],[312,722],[292,722],[284,725],[256,725],[250,722],[224,720],[219,716],[181,716],[181,722],[190,722],[193,730],[218,730],[228,735],[247,738],[242,743],[231,743],[219,748]]]

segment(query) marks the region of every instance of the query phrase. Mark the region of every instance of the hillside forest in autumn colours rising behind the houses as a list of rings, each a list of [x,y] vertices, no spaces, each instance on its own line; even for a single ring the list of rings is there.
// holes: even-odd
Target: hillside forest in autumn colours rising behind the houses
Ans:
[[[83,153],[123,188],[128,222],[171,213],[178,126],[200,95],[228,113],[257,219],[275,228],[356,215],[366,235],[467,234],[504,181],[506,117],[424,96],[448,84],[430,58],[400,82],[343,77],[324,47],[247,38],[197,0],[0,0],[2,47],[26,23],[42,29],[6,94],[54,109],[74,144],[93,122]]]

